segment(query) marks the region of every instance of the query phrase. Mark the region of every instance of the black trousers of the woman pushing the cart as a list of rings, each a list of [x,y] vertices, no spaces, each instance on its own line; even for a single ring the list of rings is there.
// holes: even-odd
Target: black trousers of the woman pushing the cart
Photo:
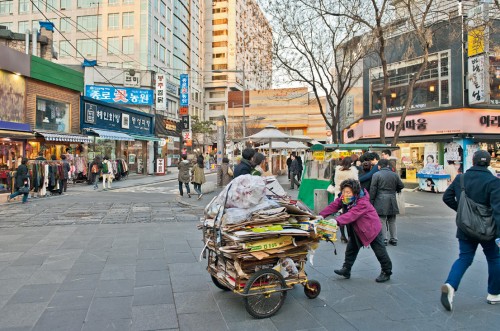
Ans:
[[[359,250],[362,247],[361,241],[356,235],[355,231],[349,232],[349,241],[347,242],[347,247],[345,250],[345,260],[344,260],[344,268],[347,270],[351,270],[352,265],[356,261],[356,257],[358,256]],[[382,239],[382,231],[378,234],[378,236],[370,243],[370,247],[375,253],[378,262],[380,263],[380,267],[382,271],[388,275],[392,274],[392,262],[389,254],[387,254],[387,249],[384,245],[384,240]]]

